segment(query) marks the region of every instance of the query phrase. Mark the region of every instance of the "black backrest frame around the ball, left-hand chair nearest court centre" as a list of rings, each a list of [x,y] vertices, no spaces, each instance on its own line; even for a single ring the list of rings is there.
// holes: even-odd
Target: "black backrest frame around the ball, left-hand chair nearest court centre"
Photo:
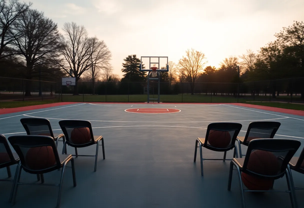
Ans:
[[[88,143],[94,143],[94,136],[93,136],[93,130],[92,130],[92,125],[91,122],[85,121],[85,120],[61,120],[59,121],[59,126],[61,130],[63,131],[64,137],[67,141],[67,143],[73,144],[73,145],[78,145],[74,144],[73,141],[71,140],[71,133],[73,132],[74,129],[78,128],[89,128],[90,130],[90,136],[91,136],[91,141]],[[88,144],[86,143],[86,144]],[[81,144],[84,145],[84,144]]]

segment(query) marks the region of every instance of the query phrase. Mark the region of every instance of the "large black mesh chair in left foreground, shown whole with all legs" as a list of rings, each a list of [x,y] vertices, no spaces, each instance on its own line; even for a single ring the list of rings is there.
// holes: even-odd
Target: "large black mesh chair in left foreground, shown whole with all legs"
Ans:
[[[58,198],[57,198],[57,208],[60,207],[60,201],[61,201],[61,190],[62,190],[62,181],[63,181],[63,175],[64,170],[66,167],[67,162],[71,161],[72,165],[72,175],[73,175],[73,183],[74,187],[76,186],[76,178],[75,178],[75,168],[74,168],[74,158],[71,154],[58,154],[57,147],[54,141],[54,138],[49,136],[32,136],[32,135],[22,135],[22,136],[11,136],[8,138],[9,142],[11,143],[12,147],[16,151],[16,153],[19,155],[20,163],[18,164],[14,184],[13,184],[13,192],[10,200],[12,204],[15,204],[16,201],[16,195],[19,185],[28,184],[28,185],[53,185],[53,186],[59,186],[59,192],[58,192]],[[39,148],[40,151],[36,151],[35,154],[33,153],[33,148]],[[43,160],[43,163],[37,163],[36,158],[43,158],[45,154],[43,155],[43,151],[41,151],[41,148],[45,147],[48,151],[48,164],[47,161]],[[50,160],[49,158],[53,158],[54,161]],[[36,160],[36,161],[33,161]],[[42,165],[43,164],[43,168]],[[34,168],[33,168],[34,167]],[[42,168],[42,169],[41,169]],[[25,172],[31,173],[31,174],[44,174],[48,173],[54,170],[58,170],[62,168],[61,171],[61,178],[59,184],[44,184],[44,179],[42,178],[42,183],[20,183],[20,176],[22,169]],[[43,176],[43,175],[42,175]]]

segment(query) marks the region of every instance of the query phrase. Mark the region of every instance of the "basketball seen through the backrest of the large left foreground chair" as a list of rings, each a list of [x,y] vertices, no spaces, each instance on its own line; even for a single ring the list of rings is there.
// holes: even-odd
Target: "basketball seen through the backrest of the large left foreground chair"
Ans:
[[[32,170],[41,170],[56,165],[51,146],[31,147],[26,153],[25,161]]]

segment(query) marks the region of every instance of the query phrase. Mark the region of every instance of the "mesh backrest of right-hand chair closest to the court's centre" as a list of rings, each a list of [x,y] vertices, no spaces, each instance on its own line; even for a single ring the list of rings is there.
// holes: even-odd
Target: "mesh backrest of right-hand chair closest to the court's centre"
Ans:
[[[219,147],[216,148],[226,149],[226,148],[234,147],[235,140],[237,139],[237,135],[240,133],[241,128],[242,128],[242,124],[240,123],[232,123],[232,122],[210,123],[207,127],[204,145],[210,145],[212,147],[216,147],[215,145],[212,145],[212,143],[216,143],[216,142],[212,142],[212,140],[216,140],[217,137],[219,140],[221,139],[220,137],[225,137],[225,142],[224,142],[225,147],[221,146],[220,148]]]

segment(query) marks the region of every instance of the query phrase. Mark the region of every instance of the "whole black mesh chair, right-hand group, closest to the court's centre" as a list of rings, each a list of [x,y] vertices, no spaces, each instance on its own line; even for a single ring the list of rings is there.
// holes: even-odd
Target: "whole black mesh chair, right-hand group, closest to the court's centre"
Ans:
[[[242,128],[242,124],[240,124],[240,123],[210,123],[207,128],[206,137],[196,139],[195,151],[194,151],[194,162],[196,161],[197,147],[199,147],[202,175],[204,175],[203,160],[223,160],[223,161],[231,160],[231,159],[226,159],[226,153],[227,153],[227,151],[232,150],[232,149],[234,149],[233,157],[235,157],[235,156],[238,157],[237,145],[235,144],[235,140],[236,140],[237,135],[240,132],[241,128]],[[212,131],[212,132],[210,132],[210,131]],[[208,141],[208,138],[210,137],[210,135],[212,133],[214,133],[214,131],[222,131],[224,134],[226,134],[226,133],[229,134],[230,140],[226,141],[225,147],[223,147],[223,146],[215,147],[214,145],[212,146],[212,144],[210,144],[210,142]],[[209,133],[210,133],[210,135],[209,135]],[[218,138],[218,140],[220,140],[220,139],[221,138]],[[199,146],[197,146],[197,144],[199,144]],[[202,147],[205,147],[212,151],[224,152],[224,158],[223,159],[205,159],[202,156]]]

